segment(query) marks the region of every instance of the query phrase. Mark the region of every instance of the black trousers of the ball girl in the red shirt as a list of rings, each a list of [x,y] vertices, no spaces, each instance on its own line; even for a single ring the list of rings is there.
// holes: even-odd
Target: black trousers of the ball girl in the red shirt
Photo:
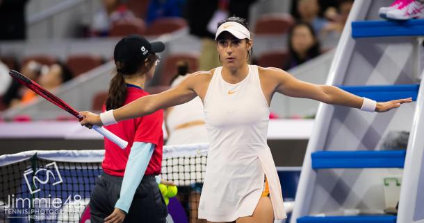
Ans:
[[[104,222],[111,215],[120,197],[122,177],[107,175],[96,178],[90,198],[90,220]],[[166,223],[168,209],[153,175],[142,178],[124,222]]]

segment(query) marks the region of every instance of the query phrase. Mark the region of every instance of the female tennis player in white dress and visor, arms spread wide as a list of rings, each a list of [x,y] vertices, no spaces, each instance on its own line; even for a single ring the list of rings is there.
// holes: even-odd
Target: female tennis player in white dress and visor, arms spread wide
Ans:
[[[81,124],[110,125],[188,102],[199,96],[209,133],[209,154],[199,218],[209,222],[273,222],[284,219],[282,191],[266,134],[272,95],[311,98],[365,111],[389,111],[411,98],[375,102],[338,87],[297,80],[286,71],[252,66],[252,38],[245,19],[230,17],[215,35],[222,66],[199,71],[179,86],[139,98],[100,115],[81,112]],[[268,181],[269,193],[263,193]]]

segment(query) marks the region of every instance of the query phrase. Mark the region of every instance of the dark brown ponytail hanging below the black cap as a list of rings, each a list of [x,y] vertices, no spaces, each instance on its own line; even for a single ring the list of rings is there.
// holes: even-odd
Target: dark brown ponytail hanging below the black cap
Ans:
[[[106,98],[106,111],[122,107],[127,98],[127,84],[125,84],[124,75],[117,72],[111,80],[108,97]]]

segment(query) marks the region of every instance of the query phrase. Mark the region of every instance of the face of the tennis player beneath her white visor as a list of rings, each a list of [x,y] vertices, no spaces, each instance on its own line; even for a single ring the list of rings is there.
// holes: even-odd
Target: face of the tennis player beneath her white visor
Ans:
[[[222,66],[238,68],[247,61],[247,51],[252,48],[252,40],[237,39],[228,32],[222,33],[216,41]]]

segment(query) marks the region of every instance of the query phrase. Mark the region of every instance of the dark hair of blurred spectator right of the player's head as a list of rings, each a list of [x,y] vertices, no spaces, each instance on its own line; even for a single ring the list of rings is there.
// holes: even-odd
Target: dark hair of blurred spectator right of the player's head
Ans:
[[[295,28],[297,28],[299,26],[306,26],[308,28],[309,32],[311,32],[313,39],[315,40],[315,44],[313,44],[311,46],[311,48],[309,48],[309,50],[307,51],[306,60],[320,55],[321,51],[320,51],[320,42],[318,41],[318,37],[316,37],[315,30],[313,30],[311,24],[303,22],[303,21],[297,22],[288,31],[288,53],[291,57],[291,58],[289,58],[289,62],[295,61],[295,62],[299,62],[298,64],[301,64],[302,62],[304,62],[306,60],[304,58],[300,58],[299,55],[297,55],[297,53],[293,49],[293,44],[291,42],[291,38],[293,37],[294,30],[295,30]],[[291,68],[291,66],[289,66],[289,64],[286,64],[285,69],[288,69],[288,68]]]

